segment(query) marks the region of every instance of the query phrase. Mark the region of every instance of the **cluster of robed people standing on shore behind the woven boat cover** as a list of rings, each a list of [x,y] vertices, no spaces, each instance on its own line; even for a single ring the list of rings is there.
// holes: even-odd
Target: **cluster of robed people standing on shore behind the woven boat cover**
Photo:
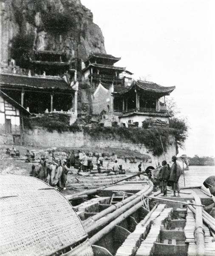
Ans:
[[[66,159],[61,161],[60,159],[55,160],[53,158],[52,161],[48,161],[42,158],[39,166],[32,165],[31,176],[37,177],[59,189],[66,189],[67,175],[71,170],[67,167],[66,163]]]

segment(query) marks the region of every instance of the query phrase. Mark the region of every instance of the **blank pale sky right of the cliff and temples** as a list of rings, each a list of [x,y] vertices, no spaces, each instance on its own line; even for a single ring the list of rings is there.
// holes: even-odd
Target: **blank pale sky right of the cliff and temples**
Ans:
[[[190,126],[180,154],[215,156],[215,1],[81,0],[108,54],[136,79],[175,86]]]

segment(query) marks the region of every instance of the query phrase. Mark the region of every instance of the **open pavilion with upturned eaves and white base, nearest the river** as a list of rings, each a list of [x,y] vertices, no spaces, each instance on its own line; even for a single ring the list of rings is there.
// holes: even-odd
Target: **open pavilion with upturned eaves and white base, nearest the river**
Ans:
[[[113,110],[118,113],[120,122],[125,126],[134,122],[142,125],[145,119],[161,119],[167,121],[165,96],[175,89],[175,86],[163,87],[153,82],[133,81],[131,86],[114,86]],[[160,99],[163,97],[163,102]]]

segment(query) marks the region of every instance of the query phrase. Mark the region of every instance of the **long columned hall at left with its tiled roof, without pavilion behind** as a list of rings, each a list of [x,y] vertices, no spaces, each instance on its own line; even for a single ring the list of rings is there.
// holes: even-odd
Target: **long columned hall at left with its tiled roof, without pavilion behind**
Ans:
[[[2,73],[0,90],[31,113],[76,112],[77,91],[61,78]]]

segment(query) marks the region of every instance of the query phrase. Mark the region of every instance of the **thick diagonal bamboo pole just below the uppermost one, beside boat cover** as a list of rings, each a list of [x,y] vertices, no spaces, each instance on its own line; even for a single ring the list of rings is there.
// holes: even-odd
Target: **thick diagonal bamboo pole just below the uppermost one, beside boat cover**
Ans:
[[[147,190],[147,194],[150,194],[152,192],[152,190],[153,190],[153,186],[150,186],[150,188]],[[119,209],[116,209],[116,211],[109,213],[108,215],[105,216],[105,218],[99,219],[98,221],[96,221],[96,223],[92,224],[90,227],[88,227],[86,229],[86,233],[89,234],[89,233],[99,230],[102,226],[110,223],[111,221],[116,219],[119,215],[122,215],[122,213],[124,213],[125,211],[127,211],[128,209],[133,207],[134,205],[138,204],[139,201],[141,201],[141,197],[138,196],[137,198],[135,198],[132,201],[128,202],[127,204],[123,205]],[[141,201],[141,205],[142,205],[142,201]]]

